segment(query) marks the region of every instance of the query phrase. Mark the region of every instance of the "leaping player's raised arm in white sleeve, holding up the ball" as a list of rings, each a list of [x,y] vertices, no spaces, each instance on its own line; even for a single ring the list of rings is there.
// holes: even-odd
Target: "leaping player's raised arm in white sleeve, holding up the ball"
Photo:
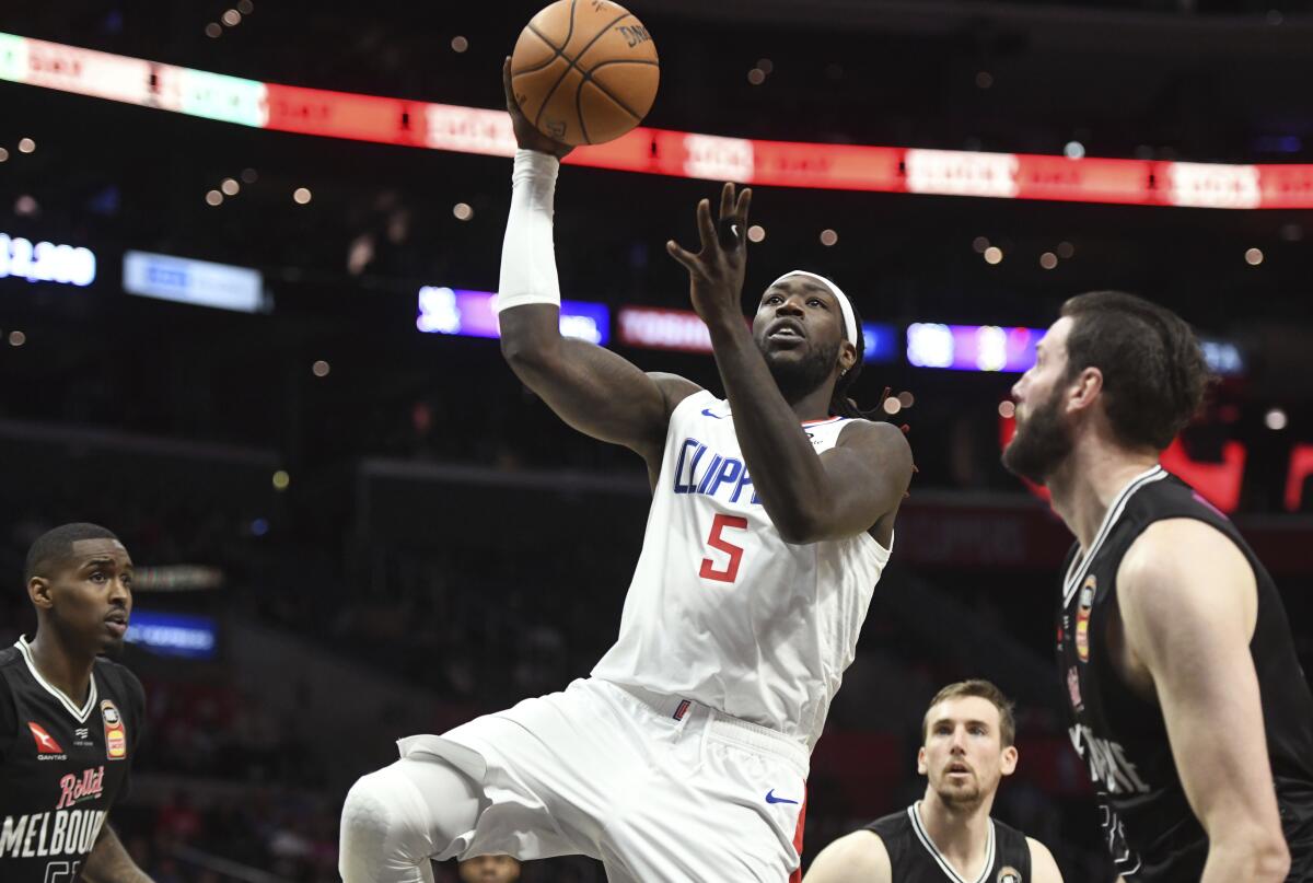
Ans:
[[[502,353],[566,423],[637,451],[654,469],[671,410],[699,388],[672,374],[643,373],[609,350],[561,336],[551,210],[559,158],[571,148],[540,133],[520,112],[509,66],[507,59],[502,81],[520,151],[498,288]]]

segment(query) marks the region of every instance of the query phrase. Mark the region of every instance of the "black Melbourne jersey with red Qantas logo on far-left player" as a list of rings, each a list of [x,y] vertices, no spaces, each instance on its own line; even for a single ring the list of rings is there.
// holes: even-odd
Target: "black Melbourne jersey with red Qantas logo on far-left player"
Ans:
[[[146,694],[97,658],[81,706],[47,683],[25,639],[0,650],[0,880],[72,883],[127,784]]]

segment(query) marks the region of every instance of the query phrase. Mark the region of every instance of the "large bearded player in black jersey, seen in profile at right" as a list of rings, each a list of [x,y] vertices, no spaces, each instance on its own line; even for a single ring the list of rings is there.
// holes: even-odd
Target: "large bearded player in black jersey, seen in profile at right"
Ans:
[[[1159,453],[1207,368],[1180,317],[1069,300],[1014,388],[1004,465],[1075,533],[1058,604],[1071,741],[1117,872],[1313,880],[1313,695],[1281,597],[1236,527]]]

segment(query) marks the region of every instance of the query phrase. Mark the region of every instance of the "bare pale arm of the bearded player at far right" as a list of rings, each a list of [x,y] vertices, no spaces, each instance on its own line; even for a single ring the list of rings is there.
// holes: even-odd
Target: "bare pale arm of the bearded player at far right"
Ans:
[[[1190,807],[1208,832],[1200,883],[1280,883],[1281,833],[1249,644],[1254,570],[1221,531],[1155,522],[1117,569],[1132,670],[1152,677]]]

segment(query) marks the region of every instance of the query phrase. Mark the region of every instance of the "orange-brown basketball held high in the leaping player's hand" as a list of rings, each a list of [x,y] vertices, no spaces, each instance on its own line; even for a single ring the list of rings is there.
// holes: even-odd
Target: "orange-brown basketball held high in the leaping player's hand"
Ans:
[[[524,116],[567,145],[600,145],[637,126],[659,80],[647,29],[611,0],[557,0],[529,21],[511,57]]]

